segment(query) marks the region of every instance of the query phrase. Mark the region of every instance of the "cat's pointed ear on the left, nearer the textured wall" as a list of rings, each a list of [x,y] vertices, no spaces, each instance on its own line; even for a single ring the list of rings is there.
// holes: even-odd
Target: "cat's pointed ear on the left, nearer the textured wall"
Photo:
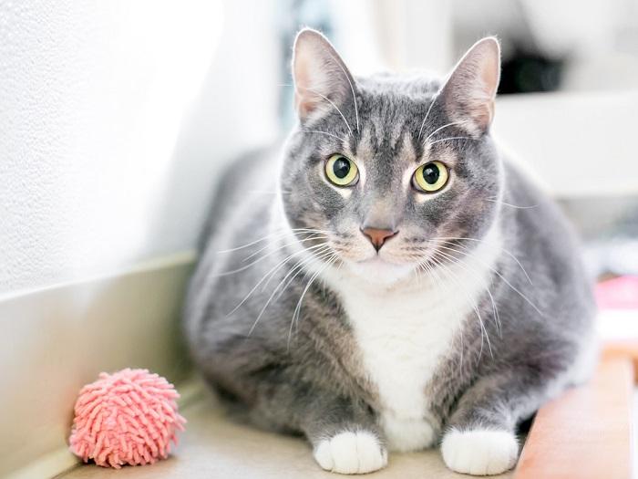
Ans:
[[[355,80],[344,61],[328,39],[311,28],[294,40],[293,80],[294,106],[301,120],[355,94]]]

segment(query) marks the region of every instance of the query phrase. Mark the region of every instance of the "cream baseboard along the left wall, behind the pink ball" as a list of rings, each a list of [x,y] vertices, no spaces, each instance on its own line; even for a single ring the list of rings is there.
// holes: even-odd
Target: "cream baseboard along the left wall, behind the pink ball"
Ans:
[[[51,477],[75,463],[66,452],[73,405],[99,372],[186,377],[179,318],[194,259],[0,299],[0,476]]]

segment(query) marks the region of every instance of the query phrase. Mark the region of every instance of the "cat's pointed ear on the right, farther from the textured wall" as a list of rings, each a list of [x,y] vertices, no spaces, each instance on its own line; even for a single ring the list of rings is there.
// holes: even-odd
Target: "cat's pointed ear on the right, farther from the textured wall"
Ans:
[[[448,117],[470,133],[487,131],[494,118],[499,78],[499,41],[488,36],[469,48],[439,93]]]

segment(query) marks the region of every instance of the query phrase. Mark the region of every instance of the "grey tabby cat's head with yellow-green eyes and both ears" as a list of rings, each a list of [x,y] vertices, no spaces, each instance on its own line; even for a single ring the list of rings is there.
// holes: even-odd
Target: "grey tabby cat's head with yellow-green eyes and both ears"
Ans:
[[[499,43],[488,37],[443,82],[355,78],[324,36],[303,30],[293,56],[299,121],[281,174],[302,244],[382,282],[447,262],[455,244],[475,247],[453,238],[481,239],[498,212],[489,125],[499,68]]]

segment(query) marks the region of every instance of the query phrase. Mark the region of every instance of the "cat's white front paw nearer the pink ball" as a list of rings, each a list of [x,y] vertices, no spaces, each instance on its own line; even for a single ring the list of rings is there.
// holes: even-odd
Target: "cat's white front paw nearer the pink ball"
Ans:
[[[317,445],[314,460],[333,473],[365,474],[385,467],[387,452],[372,432],[339,432]]]

